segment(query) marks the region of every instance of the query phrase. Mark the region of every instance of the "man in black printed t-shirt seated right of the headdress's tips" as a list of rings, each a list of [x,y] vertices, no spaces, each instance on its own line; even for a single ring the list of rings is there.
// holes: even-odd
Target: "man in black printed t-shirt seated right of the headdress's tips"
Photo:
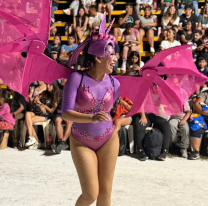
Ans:
[[[133,5],[126,4],[126,14],[121,14],[118,19],[119,28],[114,28],[114,36],[116,38],[116,43],[118,43],[118,37],[121,37],[123,32],[126,29],[126,24],[134,24],[134,29],[139,28],[139,18],[136,14],[133,13]]]

